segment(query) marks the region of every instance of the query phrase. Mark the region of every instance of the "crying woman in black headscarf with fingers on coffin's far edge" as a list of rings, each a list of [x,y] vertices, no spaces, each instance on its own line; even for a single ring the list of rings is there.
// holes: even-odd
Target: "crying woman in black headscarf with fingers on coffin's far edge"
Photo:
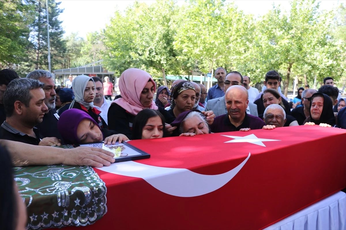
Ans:
[[[303,124],[318,124],[320,126],[335,126],[336,119],[333,112],[333,102],[324,93],[314,93],[310,100],[310,116]]]

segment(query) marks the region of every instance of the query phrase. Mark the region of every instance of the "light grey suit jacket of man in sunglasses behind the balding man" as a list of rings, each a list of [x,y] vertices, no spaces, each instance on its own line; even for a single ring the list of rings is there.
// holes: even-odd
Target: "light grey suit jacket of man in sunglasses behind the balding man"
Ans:
[[[227,109],[226,109],[225,96],[208,100],[206,111],[209,111],[209,110],[212,110],[216,117],[226,114]],[[252,116],[258,117],[257,105],[249,102],[246,112],[250,113]]]

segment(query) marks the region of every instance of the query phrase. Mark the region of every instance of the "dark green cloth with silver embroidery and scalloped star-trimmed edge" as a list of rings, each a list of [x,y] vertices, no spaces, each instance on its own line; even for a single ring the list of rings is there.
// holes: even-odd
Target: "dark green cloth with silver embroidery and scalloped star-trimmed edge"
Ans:
[[[86,226],[107,212],[106,186],[89,166],[30,166],[14,170],[20,196],[27,206],[27,229]]]

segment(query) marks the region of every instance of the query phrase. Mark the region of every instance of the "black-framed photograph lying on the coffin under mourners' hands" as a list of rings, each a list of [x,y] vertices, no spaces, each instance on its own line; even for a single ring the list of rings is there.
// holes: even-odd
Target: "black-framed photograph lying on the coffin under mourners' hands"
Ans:
[[[93,142],[80,144],[79,146],[96,147],[110,151],[114,153],[114,163],[121,161],[132,161],[150,158],[150,154],[134,147],[133,145],[127,142],[118,143],[117,141],[115,144],[103,144],[103,142]]]

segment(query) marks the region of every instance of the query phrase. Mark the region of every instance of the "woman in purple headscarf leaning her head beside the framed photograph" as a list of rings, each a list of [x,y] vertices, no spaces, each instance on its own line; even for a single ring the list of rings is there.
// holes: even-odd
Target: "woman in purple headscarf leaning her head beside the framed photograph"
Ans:
[[[81,144],[104,141],[104,144],[115,144],[117,140],[129,140],[124,134],[114,131],[101,131],[100,126],[90,115],[79,109],[63,112],[58,120],[58,130],[66,144]]]

